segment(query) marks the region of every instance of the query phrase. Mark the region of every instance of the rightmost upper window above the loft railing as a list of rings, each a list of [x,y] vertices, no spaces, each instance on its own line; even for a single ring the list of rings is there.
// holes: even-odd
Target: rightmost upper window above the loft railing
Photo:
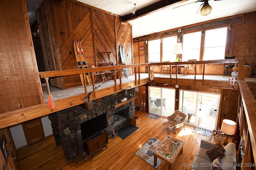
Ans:
[[[226,38],[227,27],[206,30],[203,60],[224,59]]]

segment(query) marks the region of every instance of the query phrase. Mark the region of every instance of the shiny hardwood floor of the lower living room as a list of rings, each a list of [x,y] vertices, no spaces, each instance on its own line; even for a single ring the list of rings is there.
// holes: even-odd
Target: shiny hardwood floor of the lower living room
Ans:
[[[151,137],[162,141],[166,137],[167,132],[163,129],[163,122],[167,119],[160,117],[157,120],[147,117],[147,113],[136,112],[140,117],[139,129],[126,139],[116,137],[108,138],[108,149],[103,148],[96,152],[91,161],[91,157],[84,154],[87,162],[79,157],[78,168],[76,168],[76,159],[74,162],[68,162],[64,156],[62,147],[57,147],[54,137],[49,137],[44,141],[40,141],[29,147],[17,150],[17,160],[20,170],[60,170],[69,165],[72,170],[155,170],[154,167],[146,163],[144,160],[135,155]],[[208,140],[208,137],[193,133],[194,127],[185,125],[176,130],[176,134],[172,131],[169,134],[172,137],[181,139],[185,142],[183,153],[178,157],[177,162],[173,165],[174,170],[190,170],[191,167],[184,167],[183,164],[192,164],[201,139]],[[168,164],[162,162],[158,170],[166,170]]]

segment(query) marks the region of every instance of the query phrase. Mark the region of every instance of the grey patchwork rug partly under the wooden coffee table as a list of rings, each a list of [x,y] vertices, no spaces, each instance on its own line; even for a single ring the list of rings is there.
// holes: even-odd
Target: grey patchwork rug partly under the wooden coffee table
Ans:
[[[158,166],[161,164],[162,159],[157,158],[157,164],[156,166],[154,166],[154,155],[153,155],[153,151],[156,149],[156,147],[161,143],[161,141],[159,141],[158,139],[152,137],[149,139],[149,141],[147,143],[145,143],[145,145],[143,145],[143,147],[141,147],[136,153],[135,155],[137,155],[139,158],[141,158],[142,160],[144,160],[145,162],[147,162],[148,164],[150,164],[151,166],[153,166],[154,168],[158,168]]]

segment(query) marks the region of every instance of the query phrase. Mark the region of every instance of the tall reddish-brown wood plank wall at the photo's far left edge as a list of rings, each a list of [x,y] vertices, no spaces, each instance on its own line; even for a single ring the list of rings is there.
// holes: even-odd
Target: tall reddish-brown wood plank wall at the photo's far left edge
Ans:
[[[26,1],[0,1],[0,113],[44,103]]]

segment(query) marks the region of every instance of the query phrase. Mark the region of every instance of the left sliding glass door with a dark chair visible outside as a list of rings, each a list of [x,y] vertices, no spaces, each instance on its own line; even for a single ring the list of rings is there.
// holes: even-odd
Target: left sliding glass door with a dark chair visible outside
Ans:
[[[167,117],[172,115],[175,107],[175,90],[149,87],[149,113]]]

